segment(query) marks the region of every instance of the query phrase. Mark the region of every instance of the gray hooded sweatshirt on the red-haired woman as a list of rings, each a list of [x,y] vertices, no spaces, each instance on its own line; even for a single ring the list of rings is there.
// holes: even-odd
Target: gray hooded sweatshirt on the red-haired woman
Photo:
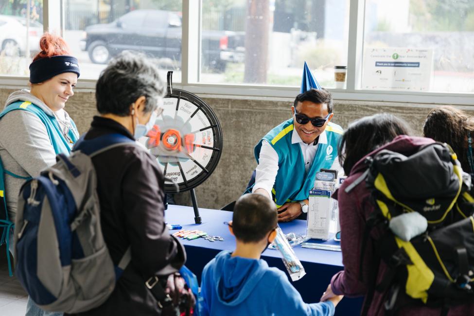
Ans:
[[[64,133],[72,129],[77,134],[66,111],[53,112],[29,90],[23,89],[10,94],[4,107],[17,101],[29,101],[37,105],[46,114],[56,116]],[[0,120],[0,158],[6,170],[25,177],[39,176],[43,169],[56,163],[56,153],[46,126],[35,114],[22,110],[11,111]],[[10,220],[13,222],[18,194],[24,182],[24,179],[5,175],[5,197]]]

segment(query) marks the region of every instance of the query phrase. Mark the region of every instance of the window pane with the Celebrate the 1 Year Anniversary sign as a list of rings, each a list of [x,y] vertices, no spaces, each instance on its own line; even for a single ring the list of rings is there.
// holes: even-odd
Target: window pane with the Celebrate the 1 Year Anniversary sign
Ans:
[[[366,0],[362,89],[474,92],[474,1]]]

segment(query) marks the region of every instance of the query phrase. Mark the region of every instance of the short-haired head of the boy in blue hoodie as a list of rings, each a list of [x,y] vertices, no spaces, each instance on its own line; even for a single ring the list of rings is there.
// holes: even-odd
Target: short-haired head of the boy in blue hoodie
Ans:
[[[244,194],[235,203],[231,232],[243,243],[266,243],[277,227],[277,221],[277,208],[268,197]],[[275,237],[270,238],[273,241]]]

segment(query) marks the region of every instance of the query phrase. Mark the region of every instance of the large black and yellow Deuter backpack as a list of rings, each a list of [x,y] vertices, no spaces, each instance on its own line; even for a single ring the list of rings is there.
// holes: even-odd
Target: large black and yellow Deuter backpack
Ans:
[[[405,153],[406,154],[406,153]],[[362,310],[366,314],[374,291],[388,291],[387,315],[399,307],[424,304],[442,308],[474,300],[474,199],[471,177],[462,172],[456,154],[442,143],[419,147],[405,156],[387,149],[365,159],[366,172],[346,188],[365,180],[374,211],[369,215],[361,248],[373,241],[388,270],[373,284]],[[419,212],[427,220],[421,235],[404,241],[389,228],[394,217]],[[410,223],[411,225],[411,223]],[[371,234],[377,228],[379,234]]]

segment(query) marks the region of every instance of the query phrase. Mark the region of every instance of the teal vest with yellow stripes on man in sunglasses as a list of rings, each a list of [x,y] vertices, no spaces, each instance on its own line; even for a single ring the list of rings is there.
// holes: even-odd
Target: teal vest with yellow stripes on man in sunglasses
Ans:
[[[318,144],[315,159],[307,174],[299,143],[291,143],[293,132],[293,119],[289,119],[273,128],[262,139],[268,141],[278,154],[278,174],[272,190],[277,207],[285,202],[301,201],[308,198],[309,191],[313,189],[316,172],[320,169],[330,169],[333,165],[343,130],[337,124],[328,123],[325,129],[328,141],[326,144]],[[257,163],[262,140],[255,146]]]

